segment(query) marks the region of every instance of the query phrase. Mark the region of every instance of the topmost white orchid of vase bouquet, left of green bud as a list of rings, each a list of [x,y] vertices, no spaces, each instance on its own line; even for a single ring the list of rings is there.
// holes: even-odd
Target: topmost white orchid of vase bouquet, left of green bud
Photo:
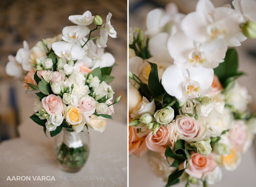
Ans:
[[[69,16],[68,19],[74,24],[86,26],[93,22],[94,16],[92,16],[92,13],[87,10],[83,15]]]

